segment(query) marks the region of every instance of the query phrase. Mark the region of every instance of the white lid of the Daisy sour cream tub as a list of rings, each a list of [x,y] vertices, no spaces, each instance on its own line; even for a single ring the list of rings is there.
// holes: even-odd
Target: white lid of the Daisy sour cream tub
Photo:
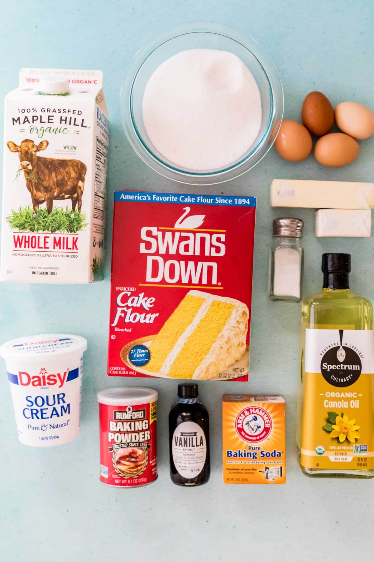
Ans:
[[[63,356],[70,353],[83,353],[87,349],[87,340],[72,334],[41,334],[39,336],[24,336],[3,343],[0,355],[5,360],[27,361],[40,360],[43,356]]]

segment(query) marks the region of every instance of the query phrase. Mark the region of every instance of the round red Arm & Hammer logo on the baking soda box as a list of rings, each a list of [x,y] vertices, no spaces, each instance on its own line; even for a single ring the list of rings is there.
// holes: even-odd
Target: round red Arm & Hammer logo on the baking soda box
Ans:
[[[271,416],[260,406],[244,408],[235,420],[238,436],[248,443],[260,443],[269,437],[271,432]]]

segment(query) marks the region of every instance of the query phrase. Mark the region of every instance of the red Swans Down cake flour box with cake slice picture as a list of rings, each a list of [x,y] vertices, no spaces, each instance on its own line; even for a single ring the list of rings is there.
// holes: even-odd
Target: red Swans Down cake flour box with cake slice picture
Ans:
[[[255,197],[114,194],[108,375],[248,380]]]

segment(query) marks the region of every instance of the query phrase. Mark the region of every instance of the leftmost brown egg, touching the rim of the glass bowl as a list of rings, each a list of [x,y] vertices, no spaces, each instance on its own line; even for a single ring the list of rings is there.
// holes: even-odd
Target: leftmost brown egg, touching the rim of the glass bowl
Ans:
[[[312,137],[309,131],[298,121],[282,121],[274,147],[279,156],[289,162],[301,162],[312,150]]]

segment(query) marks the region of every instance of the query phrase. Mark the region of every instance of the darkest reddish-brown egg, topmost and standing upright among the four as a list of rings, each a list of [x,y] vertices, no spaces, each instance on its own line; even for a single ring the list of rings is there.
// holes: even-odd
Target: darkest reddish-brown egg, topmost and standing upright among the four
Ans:
[[[311,92],[304,99],[301,119],[312,135],[321,137],[334,125],[333,106],[321,92]]]

